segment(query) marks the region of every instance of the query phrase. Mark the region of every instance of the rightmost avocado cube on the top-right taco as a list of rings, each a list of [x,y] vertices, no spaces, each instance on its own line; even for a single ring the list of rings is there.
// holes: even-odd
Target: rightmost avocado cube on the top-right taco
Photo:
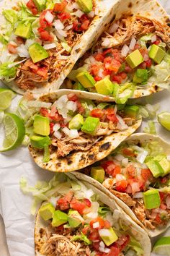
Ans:
[[[151,49],[148,53],[151,59],[155,61],[157,64],[160,64],[161,61],[164,59],[166,52],[159,46],[156,46],[156,44],[153,44],[151,46]]]

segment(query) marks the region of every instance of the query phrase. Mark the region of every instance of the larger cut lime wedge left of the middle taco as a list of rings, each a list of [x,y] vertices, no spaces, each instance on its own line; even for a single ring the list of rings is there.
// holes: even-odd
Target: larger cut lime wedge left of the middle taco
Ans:
[[[25,129],[24,122],[19,116],[6,113],[4,116],[5,138],[1,152],[13,150],[22,143],[24,139]]]

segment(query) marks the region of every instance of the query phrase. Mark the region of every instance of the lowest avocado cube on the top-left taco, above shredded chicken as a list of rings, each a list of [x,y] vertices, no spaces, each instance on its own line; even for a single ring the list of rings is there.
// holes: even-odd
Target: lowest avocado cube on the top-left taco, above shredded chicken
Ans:
[[[48,52],[45,51],[45,48],[43,48],[40,43],[33,43],[28,48],[30,57],[34,63],[38,61],[42,61],[42,59],[48,58]]]

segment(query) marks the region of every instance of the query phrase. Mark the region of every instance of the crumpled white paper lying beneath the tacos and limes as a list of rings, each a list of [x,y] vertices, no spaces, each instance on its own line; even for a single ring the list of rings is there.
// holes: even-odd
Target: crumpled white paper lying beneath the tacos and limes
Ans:
[[[170,1],[161,0],[162,5],[170,13]],[[17,106],[19,96],[14,99],[11,109]],[[161,93],[153,95],[152,103],[160,103],[161,111],[169,111],[170,92],[164,90]],[[142,100],[143,101],[143,100]],[[146,127],[147,122],[143,121],[141,132]],[[170,143],[170,132],[166,131],[156,123],[158,135]],[[2,132],[0,131],[0,137]],[[37,180],[49,180],[53,173],[42,170],[35,165],[30,158],[27,148],[17,148],[17,150],[0,154],[0,214],[4,218],[6,239],[11,256],[33,256],[34,252],[34,216],[30,215],[30,206],[32,198],[23,195],[19,189],[19,179],[24,176],[28,183],[34,185]],[[1,231],[1,228],[0,228]],[[170,236],[170,229],[166,231]],[[0,255],[6,256],[6,254]],[[154,255],[154,254],[152,254]]]

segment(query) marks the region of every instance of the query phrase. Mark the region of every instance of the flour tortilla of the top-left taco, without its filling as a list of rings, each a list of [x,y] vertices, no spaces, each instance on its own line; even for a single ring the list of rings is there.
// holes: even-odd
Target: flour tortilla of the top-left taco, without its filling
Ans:
[[[24,0],[27,2],[26,0]],[[3,25],[5,18],[3,17],[2,11],[3,9],[10,9],[19,2],[19,0],[4,0],[0,3],[0,24]],[[79,41],[73,46],[71,55],[69,56],[68,60],[66,61],[66,66],[63,68],[60,76],[57,80],[53,82],[47,82],[45,86],[40,88],[35,88],[30,90],[30,92],[38,98],[41,93],[50,93],[54,90],[58,90],[60,88],[63,80],[67,77],[71,69],[73,68],[76,61],[91,47],[91,44],[94,40],[97,40],[99,35],[103,32],[104,27],[110,22],[113,17],[113,7],[117,0],[96,0],[97,9],[99,10],[99,14],[94,18],[91,22],[91,25],[88,30],[81,36]],[[0,25],[0,32],[1,32],[1,25]],[[3,51],[0,44],[0,52]],[[9,88],[12,88],[15,92],[19,94],[23,94],[25,90],[18,88],[17,84],[12,80],[11,82],[6,82],[3,80]]]

